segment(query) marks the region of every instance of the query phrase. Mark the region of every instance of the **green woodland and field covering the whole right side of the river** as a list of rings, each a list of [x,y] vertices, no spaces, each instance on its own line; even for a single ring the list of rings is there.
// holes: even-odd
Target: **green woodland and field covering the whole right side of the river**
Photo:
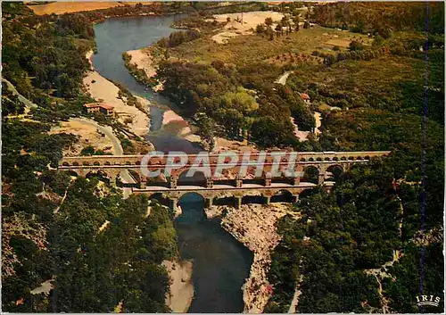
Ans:
[[[200,37],[170,48],[173,58],[161,62],[164,92],[204,121],[197,124],[206,126],[207,137],[249,137],[260,147],[295,150],[392,151],[383,161],[335,174],[331,193],[316,189],[295,205],[301,219],[278,223],[283,240],[273,253],[274,293],[265,311],[288,311],[296,286],[299,312],[417,311],[421,250],[429,257],[425,290],[443,297],[442,237],[419,241],[423,196],[426,234],[442,231],[443,7],[428,4],[426,44],[425,4],[405,5],[355,3],[347,11],[344,4],[320,5],[311,21],[358,33],[314,26],[282,34],[268,31],[272,22],[265,21],[257,36],[227,45]],[[274,84],[285,70],[293,70],[285,87]],[[310,95],[310,105],[301,93]],[[312,130],[310,111],[322,112],[322,134],[298,143],[289,118]],[[384,276],[376,278],[374,269]]]

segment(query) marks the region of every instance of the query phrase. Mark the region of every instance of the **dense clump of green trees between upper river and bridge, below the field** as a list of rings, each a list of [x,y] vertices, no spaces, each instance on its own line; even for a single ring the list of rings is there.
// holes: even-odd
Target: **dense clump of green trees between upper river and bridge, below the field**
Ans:
[[[255,73],[256,71],[258,73]],[[158,79],[164,92],[188,116],[203,112],[223,136],[242,139],[245,134],[260,147],[292,145],[290,116],[304,130],[315,127],[314,118],[296,91],[268,83],[266,76],[280,73],[260,65],[235,68],[223,62],[161,62]],[[272,78],[268,78],[272,81]]]

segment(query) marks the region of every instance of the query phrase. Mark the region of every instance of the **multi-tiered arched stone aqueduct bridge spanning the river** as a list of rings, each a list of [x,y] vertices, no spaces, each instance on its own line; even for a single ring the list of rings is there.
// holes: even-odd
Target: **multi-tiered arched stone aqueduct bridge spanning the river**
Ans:
[[[222,172],[221,178],[196,178],[187,180],[182,178],[182,174],[191,168],[197,155],[189,154],[186,165],[176,170],[172,170],[169,178],[161,175],[158,178],[145,178],[141,170],[141,162],[144,155],[94,155],[94,156],[76,156],[63,157],[59,162],[59,170],[75,172],[78,176],[87,177],[91,174],[99,174],[109,178],[111,186],[115,186],[117,179],[121,186],[132,187],[133,194],[145,195],[164,195],[169,198],[171,206],[176,210],[179,198],[187,193],[196,193],[202,195],[207,205],[212,205],[214,199],[235,198],[235,206],[239,207],[242,199],[246,195],[260,195],[268,204],[271,197],[277,194],[287,194],[290,201],[295,201],[302,191],[310,189],[317,185],[330,189],[335,183],[330,178],[332,171],[350,170],[353,163],[369,162],[374,157],[388,155],[390,151],[367,151],[367,152],[304,152],[297,153],[297,158],[293,162],[293,168],[298,176],[294,178],[271,178],[268,174],[273,165],[274,157],[267,153],[261,177],[255,177],[256,168],[252,165],[246,166],[246,176],[238,175],[243,162],[243,154],[239,154],[237,163],[227,166],[227,170]],[[166,154],[167,155],[167,154]],[[147,170],[164,170],[167,162],[167,156],[151,157],[143,166]],[[259,153],[252,153],[251,162],[257,161]],[[285,170],[288,167],[289,154],[280,158],[279,170]],[[210,154],[211,174],[214,174],[218,155]],[[228,162],[225,160],[225,162]],[[277,162],[276,162],[277,164]],[[318,178],[307,178],[307,170],[313,168],[313,172]],[[122,183],[120,174],[122,171],[128,171],[136,184]],[[162,171],[161,171],[162,173]],[[317,183],[316,183],[317,182]]]

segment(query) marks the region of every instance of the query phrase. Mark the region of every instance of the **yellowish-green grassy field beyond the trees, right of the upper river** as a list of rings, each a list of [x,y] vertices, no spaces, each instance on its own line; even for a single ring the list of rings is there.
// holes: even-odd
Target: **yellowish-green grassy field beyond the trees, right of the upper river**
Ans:
[[[194,42],[186,43],[170,50],[170,55],[190,61],[212,62],[220,60],[227,63],[247,64],[275,60],[282,54],[306,54],[313,51],[333,51],[334,43],[345,49],[353,39],[361,39],[370,43],[367,36],[314,26],[301,29],[288,35],[268,40],[266,36],[244,35],[229,40],[227,44],[218,44],[209,37],[202,37]]]

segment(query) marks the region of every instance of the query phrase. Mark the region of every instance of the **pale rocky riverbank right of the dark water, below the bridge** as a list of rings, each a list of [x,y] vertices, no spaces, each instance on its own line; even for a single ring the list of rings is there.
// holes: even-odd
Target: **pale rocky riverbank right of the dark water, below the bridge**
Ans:
[[[208,219],[221,217],[221,227],[244,244],[254,254],[250,277],[246,279],[244,312],[261,313],[271,297],[273,288],[268,283],[271,264],[270,253],[281,237],[277,234],[276,222],[286,214],[298,217],[288,203],[270,205],[242,205],[240,209],[227,206],[212,206],[204,209]],[[227,212],[223,215],[224,212]]]

